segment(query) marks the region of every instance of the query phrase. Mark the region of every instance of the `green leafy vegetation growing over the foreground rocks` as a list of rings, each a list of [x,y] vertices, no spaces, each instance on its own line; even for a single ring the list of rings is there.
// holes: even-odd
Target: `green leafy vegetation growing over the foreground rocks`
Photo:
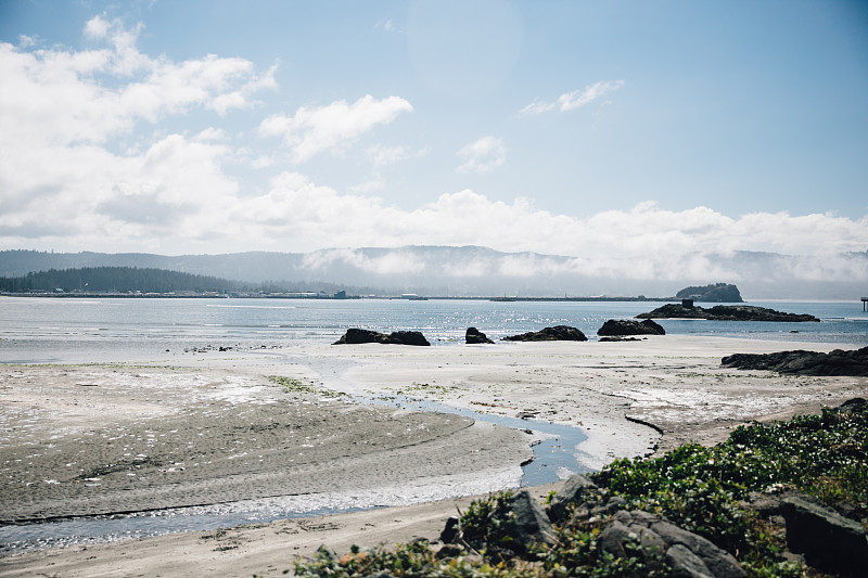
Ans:
[[[590,477],[598,488],[585,494],[586,501],[603,503],[621,496],[629,510],[659,514],[710,539],[736,556],[751,577],[819,577],[824,575],[780,557],[786,548],[781,532],[744,500],[754,491],[794,488],[865,523],[868,411],[825,410],[788,422],[755,423],[713,448],[688,445],[662,458],[617,460]],[[541,544],[519,558],[509,548],[508,498],[502,492],[473,502],[460,519],[472,549],[455,555],[437,555],[424,541],[392,550],[354,548],[342,557],[321,549],[312,560],[299,561],[295,571],[337,578],[380,571],[395,578],[665,575],[665,568],[644,566],[638,553],[628,551],[621,558],[601,554],[596,538],[607,521],[593,517],[564,524],[557,528],[554,547]]]

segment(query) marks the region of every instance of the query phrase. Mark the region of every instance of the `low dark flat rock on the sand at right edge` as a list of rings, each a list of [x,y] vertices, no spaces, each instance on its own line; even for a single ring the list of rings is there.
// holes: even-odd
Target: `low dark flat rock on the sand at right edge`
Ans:
[[[723,358],[720,364],[742,370],[768,370],[799,375],[868,376],[868,347],[848,351],[835,349],[829,354],[803,350],[736,354]]]

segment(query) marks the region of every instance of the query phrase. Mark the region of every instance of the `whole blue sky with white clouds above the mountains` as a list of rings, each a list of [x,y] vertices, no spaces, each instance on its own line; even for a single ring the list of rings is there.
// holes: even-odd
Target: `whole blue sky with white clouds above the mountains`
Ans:
[[[0,0],[0,248],[404,245],[868,251],[868,3]]]

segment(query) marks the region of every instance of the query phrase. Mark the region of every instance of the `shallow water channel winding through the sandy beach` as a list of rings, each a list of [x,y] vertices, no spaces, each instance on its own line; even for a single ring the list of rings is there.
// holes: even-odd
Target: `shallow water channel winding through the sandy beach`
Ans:
[[[404,396],[358,398],[358,401],[413,411],[454,413],[478,422],[533,431],[537,437],[542,437],[542,440],[533,447],[534,460],[522,466],[523,487],[550,484],[564,479],[575,472],[590,471],[582,464],[582,452],[576,449],[587,439],[577,427],[489,415]],[[0,526],[0,556],[42,548],[111,542],[180,531],[214,530],[242,524],[405,505],[447,498],[442,491],[442,487],[436,485],[431,487],[413,485],[412,488],[392,487],[379,491],[285,496],[137,514]]]

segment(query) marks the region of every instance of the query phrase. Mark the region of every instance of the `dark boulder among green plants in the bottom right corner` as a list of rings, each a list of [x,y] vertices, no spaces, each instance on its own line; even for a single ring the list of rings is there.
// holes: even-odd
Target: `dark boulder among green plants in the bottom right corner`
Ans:
[[[799,497],[781,501],[787,547],[815,568],[843,576],[865,576],[868,537],[856,521]]]

